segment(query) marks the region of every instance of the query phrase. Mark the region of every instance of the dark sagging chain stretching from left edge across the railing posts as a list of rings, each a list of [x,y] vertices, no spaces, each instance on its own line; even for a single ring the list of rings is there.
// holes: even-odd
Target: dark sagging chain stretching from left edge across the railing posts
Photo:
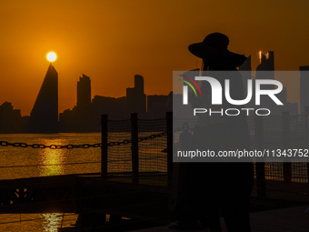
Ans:
[[[137,139],[137,142],[142,142],[145,140],[149,140],[149,139],[154,139],[156,137],[160,137],[160,136],[166,136],[167,133],[166,132],[162,132],[159,134],[153,134],[150,136],[144,136],[144,137],[139,137]],[[125,139],[122,142],[109,142],[107,144],[107,146],[120,146],[120,145],[127,145],[127,144],[131,144],[133,141],[130,139]],[[9,143],[6,141],[0,141],[0,146],[15,146],[15,147],[32,147],[32,148],[50,148],[50,149],[73,149],[73,148],[90,148],[90,147],[101,147],[102,144],[82,144],[82,145],[42,145],[42,144],[32,144],[32,145],[28,145],[26,143]]]

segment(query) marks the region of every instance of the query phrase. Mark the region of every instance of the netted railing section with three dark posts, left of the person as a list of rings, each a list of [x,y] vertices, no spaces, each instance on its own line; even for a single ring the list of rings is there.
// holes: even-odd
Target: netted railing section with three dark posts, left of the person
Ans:
[[[173,167],[173,114],[165,118],[109,120],[102,116],[101,176],[131,176],[139,183],[141,173],[167,174]],[[152,141],[150,141],[152,140]]]

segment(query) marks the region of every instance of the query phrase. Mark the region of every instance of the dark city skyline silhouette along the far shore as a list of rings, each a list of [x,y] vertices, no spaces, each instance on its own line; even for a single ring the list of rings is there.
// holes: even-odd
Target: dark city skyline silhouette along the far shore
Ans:
[[[274,79],[275,72],[270,72],[271,76],[264,76],[264,73],[261,73],[259,77],[259,72],[275,70],[274,52],[269,51],[264,54],[261,51],[260,58],[260,64],[256,66],[255,78]],[[240,71],[251,73],[249,76],[243,76],[244,86],[246,86],[246,79],[252,78],[252,69],[251,55],[249,55],[243,66],[239,67]],[[262,98],[264,103],[262,106],[272,108],[272,115],[281,115],[284,111],[290,112],[291,115],[304,114],[304,106],[307,106],[306,89],[309,88],[306,84],[308,76],[304,72],[307,69],[308,66],[299,67],[303,85],[299,87],[300,96],[297,102],[288,101],[291,88],[284,87],[283,92],[278,95],[284,102],[283,107],[273,106],[271,99],[266,96]],[[132,80],[133,77],[128,79]],[[50,63],[30,116],[22,116],[21,110],[14,109],[13,104],[7,101],[0,106],[2,118],[0,133],[99,132],[98,122],[104,114],[108,115],[109,119],[117,120],[128,119],[131,113],[138,113],[138,117],[142,119],[163,118],[165,112],[172,111],[173,91],[169,95],[146,96],[145,83],[147,81],[148,79],[144,79],[144,76],[135,75],[134,87],[127,87],[125,96],[95,95],[92,97],[91,78],[83,74],[77,81],[75,106],[58,112],[58,73],[55,66]],[[247,107],[254,108],[254,100]]]

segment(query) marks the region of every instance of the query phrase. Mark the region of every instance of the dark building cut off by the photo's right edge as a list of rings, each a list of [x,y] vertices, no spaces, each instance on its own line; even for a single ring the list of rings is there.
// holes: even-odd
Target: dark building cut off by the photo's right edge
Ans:
[[[304,106],[309,106],[309,66],[300,66],[301,80],[300,80],[300,103],[301,114],[304,114]]]

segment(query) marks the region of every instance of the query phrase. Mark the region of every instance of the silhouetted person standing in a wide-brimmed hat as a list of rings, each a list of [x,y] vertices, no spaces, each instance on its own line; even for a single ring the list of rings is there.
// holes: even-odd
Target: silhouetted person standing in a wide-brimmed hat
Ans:
[[[236,67],[246,57],[228,51],[229,38],[220,33],[207,35],[202,43],[189,46],[192,54],[203,59],[203,76],[212,76],[224,86],[230,79],[230,95],[235,100],[244,99],[244,86]],[[214,71],[234,71],[228,74]],[[241,108],[229,104],[223,96],[223,105],[211,105],[211,87],[204,81],[202,100],[190,97],[195,107]],[[196,102],[194,102],[196,100]],[[245,112],[244,112],[245,113]],[[193,149],[249,150],[246,117],[201,114],[194,128]],[[219,209],[229,232],[249,232],[249,198],[254,183],[252,163],[188,163],[186,170],[186,194],[194,207],[196,217],[204,227],[221,231]]]

